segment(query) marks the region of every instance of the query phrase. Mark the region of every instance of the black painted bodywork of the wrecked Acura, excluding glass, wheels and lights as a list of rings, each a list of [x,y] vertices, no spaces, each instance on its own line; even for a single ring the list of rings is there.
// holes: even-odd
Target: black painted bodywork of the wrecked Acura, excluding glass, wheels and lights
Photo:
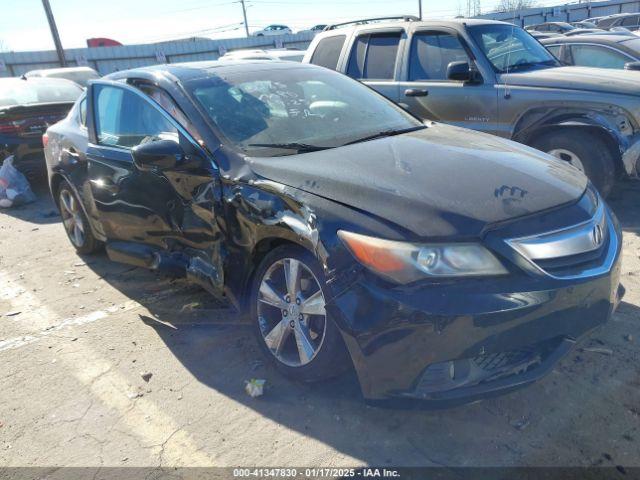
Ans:
[[[203,284],[198,274],[206,266],[213,280],[203,286],[241,309],[261,254],[282,242],[308,249],[325,271],[327,311],[369,400],[447,405],[508,391],[539,374],[486,382],[479,393],[460,389],[457,400],[452,392],[421,394],[416,385],[430,364],[537,342],[566,346],[563,338],[578,338],[609,318],[619,301],[621,234],[613,214],[613,260],[596,276],[540,274],[504,244],[504,238],[591,218],[602,200],[582,175],[527,147],[435,124],[334,150],[245,157],[223,143],[183,85],[226,69],[237,74],[270,68],[319,67],[211,63],[112,75],[108,81],[148,82],[166,91],[201,140],[183,138],[188,159],[166,171],[141,172],[131,162],[107,161],[96,146],[90,102],[87,133],[73,112],[49,129],[54,195],[60,180],[68,181],[96,237],[108,245],[130,242],[197,259],[190,278]],[[80,159],[61,154],[70,146],[82,150]],[[412,242],[473,239],[492,249],[510,274],[394,285],[362,267],[338,230]],[[559,357],[564,350],[555,352]]]

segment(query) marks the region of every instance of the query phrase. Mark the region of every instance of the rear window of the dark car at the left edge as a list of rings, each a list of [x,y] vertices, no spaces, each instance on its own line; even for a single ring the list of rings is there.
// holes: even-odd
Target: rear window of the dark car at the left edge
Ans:
[[[71,82],[36,81],[8,78],[0,80],[0,106],[38,103],[73,103],[82,89]]]

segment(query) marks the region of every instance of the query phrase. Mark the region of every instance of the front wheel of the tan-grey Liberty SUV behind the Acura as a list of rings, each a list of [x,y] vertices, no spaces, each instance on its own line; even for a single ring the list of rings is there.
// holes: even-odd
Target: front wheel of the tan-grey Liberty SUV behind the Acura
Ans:
[[[597,135],[579,130],[549,132],[535,139],[531,146],[582,170],[603,197],[613,189],[617,176],[615,159]]]

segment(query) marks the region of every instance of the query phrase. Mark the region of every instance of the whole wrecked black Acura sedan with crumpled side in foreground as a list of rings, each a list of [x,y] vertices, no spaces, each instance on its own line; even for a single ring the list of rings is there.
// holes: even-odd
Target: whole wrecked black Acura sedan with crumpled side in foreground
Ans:
[[[578,170],[321,67],[119,72],[45,143],[78,252],[185,276],[283,373],[353,366],[370,401],[531,383],[622,295],[620,228]]]

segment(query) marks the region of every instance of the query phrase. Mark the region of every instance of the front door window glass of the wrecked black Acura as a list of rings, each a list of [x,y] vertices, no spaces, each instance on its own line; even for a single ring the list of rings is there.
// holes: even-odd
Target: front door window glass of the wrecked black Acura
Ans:
[[[142,97],[128,90],[97,86],[94,90],[96,133],[101,145],[133,148],[160,139],[178,140],[177,129]]]

